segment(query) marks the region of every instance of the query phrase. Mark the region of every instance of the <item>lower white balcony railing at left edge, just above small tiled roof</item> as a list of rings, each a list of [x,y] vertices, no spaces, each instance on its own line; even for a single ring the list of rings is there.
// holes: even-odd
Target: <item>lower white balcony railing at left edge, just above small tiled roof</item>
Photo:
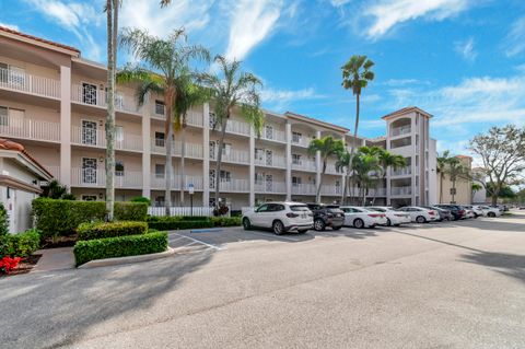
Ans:
[[[7,124],[8,125],[0,125],[1,136],[46,140],[51,142],[60,141],[60,124],[58,123],[32,119],[11,119],[8,117]]]

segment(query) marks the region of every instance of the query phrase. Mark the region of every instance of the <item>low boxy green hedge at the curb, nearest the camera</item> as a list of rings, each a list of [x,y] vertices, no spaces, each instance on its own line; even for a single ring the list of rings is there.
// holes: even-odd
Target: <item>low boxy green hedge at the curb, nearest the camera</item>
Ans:
[[[138,256],[167,249],[167,233],[79,241],[73,248],[77,266],[94,259]]]

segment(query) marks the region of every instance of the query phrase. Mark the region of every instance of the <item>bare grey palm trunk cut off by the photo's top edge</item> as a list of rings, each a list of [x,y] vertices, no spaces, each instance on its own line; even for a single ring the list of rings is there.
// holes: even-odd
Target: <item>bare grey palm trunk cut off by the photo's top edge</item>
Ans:
[[[118,1],[107,0],[107,117],[106,117],[106,210],[113,221],[115,206],[115,61]]]

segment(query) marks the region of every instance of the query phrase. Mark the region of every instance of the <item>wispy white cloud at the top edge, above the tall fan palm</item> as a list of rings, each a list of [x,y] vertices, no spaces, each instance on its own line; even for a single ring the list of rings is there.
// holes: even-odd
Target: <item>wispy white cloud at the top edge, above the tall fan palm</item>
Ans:
[[[418,18],[442,21],[467,9],[468,0],[381,0],[366,8],[373,23],[366,35],[378,38],[394,26]]]

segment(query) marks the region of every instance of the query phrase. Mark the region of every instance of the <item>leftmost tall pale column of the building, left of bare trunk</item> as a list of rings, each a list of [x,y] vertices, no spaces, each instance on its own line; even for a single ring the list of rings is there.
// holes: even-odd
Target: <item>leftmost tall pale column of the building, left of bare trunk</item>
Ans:
[[[71,68],[60,66],[60,182],[71,187]]]

